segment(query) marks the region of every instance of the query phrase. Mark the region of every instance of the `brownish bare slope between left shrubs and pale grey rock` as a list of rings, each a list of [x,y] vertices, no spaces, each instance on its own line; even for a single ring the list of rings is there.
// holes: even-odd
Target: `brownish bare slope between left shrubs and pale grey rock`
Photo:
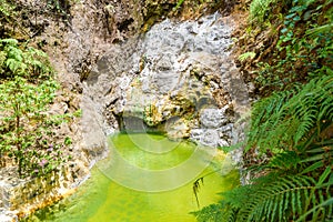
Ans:
[[[40,21],[36,23],[42,26],[34,42],[48,52],[59,73],[59,81],[65,91],[60,102],[67,103],[69,110],[82,109],[83,111],[82,120],[75,128],[78,130],[69,131],[77,144],[73,150],[78,151],[78,159],[83,160],[84,164],[105,155],[107,151],[104,118],[99,113],[104,112],[104,103],[112,103],[118,95],[108,92],[109,95],[103,98],[105,94],[100,93],[110,90],[111,84],[124,87],[125,80],[113,78],[121,74],[132,78],[131,72],[127,71],[138,69],[140,63],[138,59],[142,61],[144,59],[141,52],[137,52],[140,48],[137,41],[141,40],[135,36],[144,33],[154,22],[170,16],[194,18],[219,6],[225,9],[232,6],[224,1],[203,3],[185,1],[181,8],[174,10],[176,3],[176,0],[52,1],[52,3],[36,0],[21,1],[31,13],[29,23],[36,20]],[[27,32],[32,32],[31,26],[27,27]],[[103,74],[108,75],[107,81],[110,85],[93,92],[94,89],[89,85]],[[87,85],[83,82],[87,82]],[[112,97],[111,101],[104,102],[109,97]],[[104,115],[110,117],[109,113]],[[114,120],[111,124],[109,122],[108,128],[110,125],[117,128],[114,123]]]

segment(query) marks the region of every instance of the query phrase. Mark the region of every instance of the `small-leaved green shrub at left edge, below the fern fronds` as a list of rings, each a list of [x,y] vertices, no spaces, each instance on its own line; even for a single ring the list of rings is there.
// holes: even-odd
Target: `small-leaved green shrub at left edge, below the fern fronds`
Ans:
[[[46,105],[49,104],[57,89],[54,82],[32,85],[21,77],[14,77],[0,84],[0,112],[2,113],[1,150],[14,157],[19,164],[19,174],[31,161],[27,159],[29,147],[42,137],[41,121],[46,118]],[[37,131],[29,130],[29,128]],[[28,161],[28,162],[27,162]]]

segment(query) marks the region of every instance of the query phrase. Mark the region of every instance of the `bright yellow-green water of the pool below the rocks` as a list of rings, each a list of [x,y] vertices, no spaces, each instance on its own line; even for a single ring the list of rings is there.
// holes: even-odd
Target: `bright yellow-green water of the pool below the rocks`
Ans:
[[[131,165],[128,170],[140,170],[131,174],[118,159]],[[230,162],[215,159],[186,141],[158,134],[115,134],[110,138],[110,158],[92,169],[91,178],[73,195],[37,212],[29,221],[195,221],[189,214],[199,209],[192,191],[195,179],[208,174],[199,192],[200,206],[219,201],[219,192],[239,183]],[[149,173],[157,172],[162,174],[154,180]]]

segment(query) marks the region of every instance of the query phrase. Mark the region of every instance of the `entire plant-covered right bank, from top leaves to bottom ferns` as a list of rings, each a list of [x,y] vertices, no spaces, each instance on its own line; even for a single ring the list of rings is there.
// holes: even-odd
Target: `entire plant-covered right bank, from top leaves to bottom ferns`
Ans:
[[[263,97],[244,148],[254,178],[194,212],[199,221],[332,220],[332,0],[252,1],[239,59]],[[261,31],[268,46],[255,48]]]

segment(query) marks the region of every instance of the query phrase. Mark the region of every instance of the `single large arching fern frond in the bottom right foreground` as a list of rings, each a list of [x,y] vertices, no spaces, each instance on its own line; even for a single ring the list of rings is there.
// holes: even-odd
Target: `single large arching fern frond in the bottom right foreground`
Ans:
[[[261,190],[243,203],[239,214],[243,221],[287,221],[291,214],[303,213],[305,200],[311,199],[315,181],[309,176],[286,176]],[[289,209],[289,210],[287,210]]]

